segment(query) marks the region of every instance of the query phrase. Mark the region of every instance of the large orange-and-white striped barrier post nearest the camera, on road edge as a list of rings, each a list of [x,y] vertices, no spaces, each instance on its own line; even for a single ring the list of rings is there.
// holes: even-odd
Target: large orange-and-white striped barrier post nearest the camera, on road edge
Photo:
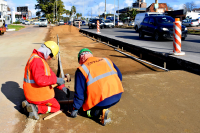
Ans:
[[[185,55],[184,52],[181,52],[181,22],[179,18],[175,18],[173,24],[173,54],[174,55]]]

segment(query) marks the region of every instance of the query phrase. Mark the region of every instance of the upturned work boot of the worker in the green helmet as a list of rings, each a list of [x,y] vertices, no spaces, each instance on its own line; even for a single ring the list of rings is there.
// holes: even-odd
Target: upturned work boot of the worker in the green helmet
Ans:
[[[112,112],[108,109],[103,109],[102,110],[102,115],[101,115],[101,124],[105,126],[106,124],[111,122],[111,115]]]

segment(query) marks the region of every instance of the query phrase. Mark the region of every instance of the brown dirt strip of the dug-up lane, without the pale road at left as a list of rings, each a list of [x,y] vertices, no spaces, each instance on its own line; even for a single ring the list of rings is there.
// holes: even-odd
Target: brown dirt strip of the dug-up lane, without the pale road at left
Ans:
[[[200,132],[200,77],[185,71],[165,72],[137,62],[116,52],[113,48],[92,41],[81,35],[76,27],[63,25],[51,27],[47,40],[57,41],[59,36],[61,61],[64,73],[69,73],[73,99],[74,74],[79,66],[77,57],[82,48],[89,48],[96,57],[110,58],[123,75],[124,93],[118,104],[111,107],[112,123],[102,126],[90,118],[69,117],[71,107],[61,105],[64,113],[49,120],[40,115],[34,133],[97,133],[136,132],[174,133]],[[134,56],[134,55],[133,55]],[[48,62],[57,72],[57,59]],[[56,91],[58,100],[66,99],[63,92]]]

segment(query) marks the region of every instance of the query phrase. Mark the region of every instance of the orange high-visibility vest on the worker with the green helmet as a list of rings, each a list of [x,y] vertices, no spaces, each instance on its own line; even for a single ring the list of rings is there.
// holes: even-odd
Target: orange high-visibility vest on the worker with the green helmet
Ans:
[[[87,83],[87,98],[82,106],[84,111],[91,109],[108,97],[124,92],[110,59],[90,57],[79,69]]]

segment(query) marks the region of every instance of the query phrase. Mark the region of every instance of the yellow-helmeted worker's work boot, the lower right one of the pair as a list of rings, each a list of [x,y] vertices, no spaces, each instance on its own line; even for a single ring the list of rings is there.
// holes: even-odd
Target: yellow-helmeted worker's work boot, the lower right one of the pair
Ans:
[[[36,105],[29,104],[29,105],[26,106],[26,109],[29,112],[29,118],[32,118],[34,120],[38,120],[39,119],[38,109],[37,109]]]

